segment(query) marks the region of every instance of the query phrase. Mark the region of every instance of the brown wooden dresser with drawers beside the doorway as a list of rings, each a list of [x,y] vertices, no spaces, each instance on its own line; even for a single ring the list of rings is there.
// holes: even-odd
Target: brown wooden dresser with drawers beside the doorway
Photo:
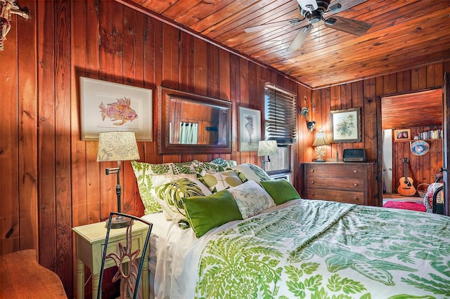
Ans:
[[[371,202],[373,163],[311,162],[302,164],[305,199],[325,199],[349,204]]]

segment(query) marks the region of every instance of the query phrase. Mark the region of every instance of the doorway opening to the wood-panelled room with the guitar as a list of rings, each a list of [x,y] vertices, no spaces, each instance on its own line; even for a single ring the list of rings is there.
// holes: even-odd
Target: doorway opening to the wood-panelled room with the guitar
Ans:
[[[442,167],[442,88],[381,97],[383,198],[397,195],[400,179],[410,177],[413,187],[433,182]],[[407,131],[407,138],[394,140],[394,130]],[[439,131],[440,130],[440,131]],[[438,132],[439,135],[431,135]],[[429,135],[427,135],[429,134]],[[416,143],[426,153],[415,151]],[[408,161],[404,164],[404,161]],[[423,187],[424,185],[421,185]],[[426,186],[425,186],[426,187]],[[416,190],[417,191],[417,190]],[[392,196],[394,198],[394,196]],[[417,201],[422,200],[418,192]],[[400,199],[401,200],[401,197]]]

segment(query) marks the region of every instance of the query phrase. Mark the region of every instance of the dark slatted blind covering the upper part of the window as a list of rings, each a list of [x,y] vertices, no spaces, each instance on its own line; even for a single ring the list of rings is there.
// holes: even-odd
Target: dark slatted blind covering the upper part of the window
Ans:
[[[279,145],[295,143],[297,95],[271,84],[266,84],[264,91],[266,140],[276,140]]]

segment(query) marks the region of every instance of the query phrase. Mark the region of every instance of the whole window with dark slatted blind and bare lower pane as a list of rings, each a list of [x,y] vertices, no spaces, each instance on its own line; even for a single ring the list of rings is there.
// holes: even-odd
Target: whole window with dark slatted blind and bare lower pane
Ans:
[[[297,95],[274,85],[264,87],[264,126],[266,140],[276,140],[278,156],[271,156],[263,164],[269,175],[290,173],[291,144],[295,143],[297,130]]]

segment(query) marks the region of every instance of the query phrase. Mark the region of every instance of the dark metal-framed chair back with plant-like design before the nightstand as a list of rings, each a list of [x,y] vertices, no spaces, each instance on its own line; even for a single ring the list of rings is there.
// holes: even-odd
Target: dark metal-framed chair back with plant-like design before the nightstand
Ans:
[[[124,218],[130,218],[129,225],[127,225],[127,232],[126,232],[126,238],[125,238],[125,244],[122,244],[119,242],[118,247],[118,253],[113,252],[106,254],[108,249],[108,240],[110,237],[110,230],[111,230],[111,220],[115,216],[122,216]],[[133,248],[133,240],[132,240],[132,228],[133,223],[136,221],[143,222],[144,224],[148,225],[148,232],[146,234],[146,239],[142,240],[142,252],[139,248]],[[117,212],[111,212],[110,218],[108,221],[108,230],[106,232],[106,239],[105,239],[105,247],[103,249],[103,255],[101,260],[101,272],[100,272],[100,281],[98,284],[98,293],[97,293],[97,299],[101,299],[101,286],[103,281],[103,272],[105,268],[105,260],[108,258],[111,258],[114,260],[115,265],[117,266],[117,273],[113,277],[113,282],[118,281],[120,279],[120,298],[129,298],[128,295],[131,294],[132,298],[135,299],[138,296],[139,293],[139,283],[141,281],[141,274],[143,269],[143,263],[148,263],[148,260],[143,258],[146,256],[147,249],[148,249],[148,242],[150,240],[150,232],[152,230],[153,224],[143,220],[141,218],[138,218],[134,215],[127,215],[124,213],[117,213]],[[113,229],[114,230],[114,229]],[[137,258],[141,255],[141,260],[139,261],[139,267],[136,266]]]

